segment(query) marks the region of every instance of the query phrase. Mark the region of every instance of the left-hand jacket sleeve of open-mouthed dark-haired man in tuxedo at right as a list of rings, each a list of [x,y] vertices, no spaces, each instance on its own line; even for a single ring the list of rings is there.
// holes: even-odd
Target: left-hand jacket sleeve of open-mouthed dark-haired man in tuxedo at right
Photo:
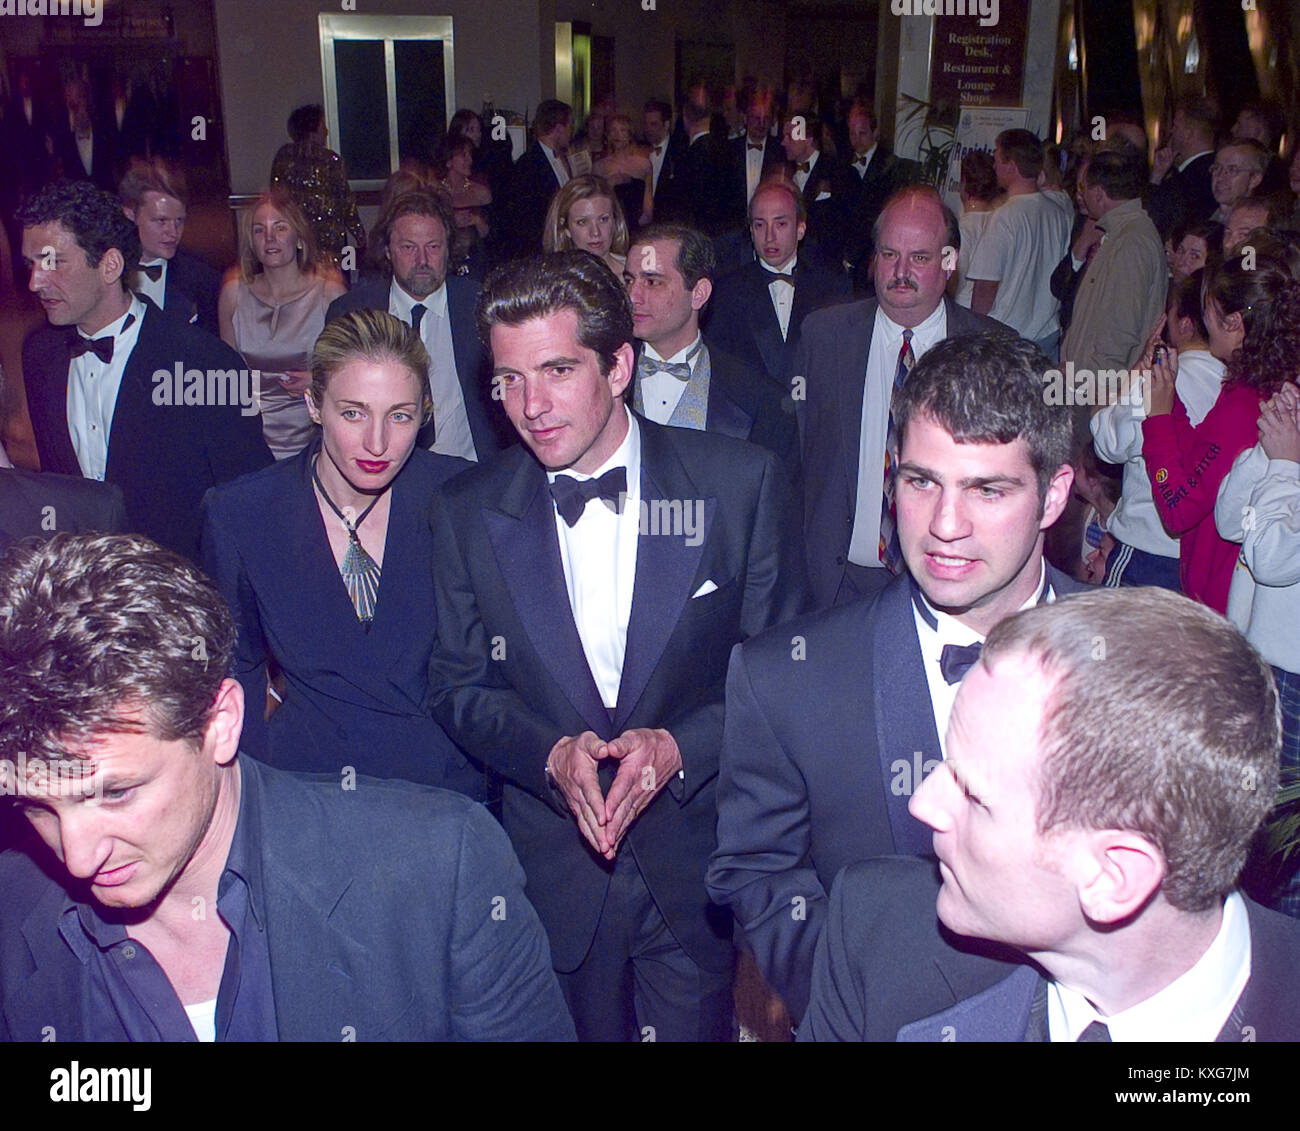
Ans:
[[[766,667],[764,658],[758,663]],[[807,1006],[827,898],[811,863],[807,786],[772,729],[766,699],[754,690],[745,647],[736,647],[727,673],[718,849],[707,885],[715,902],[731,907],[763,978],[798,1019]]]

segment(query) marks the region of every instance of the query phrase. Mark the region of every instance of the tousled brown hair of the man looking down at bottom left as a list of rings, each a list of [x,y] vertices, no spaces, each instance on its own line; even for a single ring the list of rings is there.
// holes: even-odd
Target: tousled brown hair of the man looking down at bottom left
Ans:
[[[56,534],[0,558],[0,760],[136,729],[198,742],[234,659],[220,590],[134,534]],[[250,705],[257,710],[260,705]]]

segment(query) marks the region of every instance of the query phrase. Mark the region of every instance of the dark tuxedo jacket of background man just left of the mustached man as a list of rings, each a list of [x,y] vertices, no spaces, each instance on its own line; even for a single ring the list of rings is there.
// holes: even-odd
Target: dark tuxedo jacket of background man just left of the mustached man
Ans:
[[[771,272],[754,260],[714,285],[705,308],[708,338],[751,370],[767,373],[783,390],[794,376],[803,320],[823,307],[846,303],[852,298],[848,276],[827,270],[801,256],[794,268],[794,306],[789,333],[781,338],[772,296],[767,287]]]

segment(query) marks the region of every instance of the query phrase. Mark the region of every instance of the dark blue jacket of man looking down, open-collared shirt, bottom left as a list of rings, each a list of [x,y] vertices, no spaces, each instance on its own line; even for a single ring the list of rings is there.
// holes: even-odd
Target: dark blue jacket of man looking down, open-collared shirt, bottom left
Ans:
[[[281,1040],[573,1039],[523,872],[482,806],[402,781],[342,790],[338,777],[239,767],[260,802]],[[0,857],[0,1040],[39,1041],[47,1026],[84,1040],[88,967],[58,935],[66,872],[39,842],[31,853]]]

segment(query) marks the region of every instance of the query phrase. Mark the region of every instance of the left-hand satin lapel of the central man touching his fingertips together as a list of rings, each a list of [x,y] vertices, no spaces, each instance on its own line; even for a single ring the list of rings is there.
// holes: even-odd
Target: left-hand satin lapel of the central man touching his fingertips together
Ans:
[[[541,465],[530,455],[521,455],[500,508],[484,507],[482,514],[500,576],[542,667],[588,725],[601,737],[612,737],[610,712],[592,677],[573,621],[555,534],[555,510]],[[640,560],[637,567],[640,573]]]

